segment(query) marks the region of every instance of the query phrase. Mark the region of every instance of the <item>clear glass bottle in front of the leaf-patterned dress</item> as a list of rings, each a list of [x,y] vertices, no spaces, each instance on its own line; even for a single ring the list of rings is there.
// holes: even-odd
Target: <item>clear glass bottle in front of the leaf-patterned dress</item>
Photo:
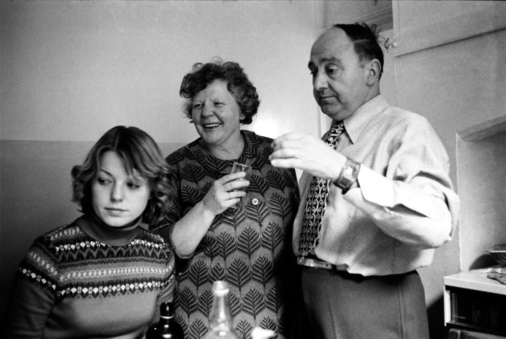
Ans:
[[[232,329],[232,312],[228,302],[228,283],[213,283],[213,307],[209,314],[209,330],[203,339],[240,339]]]

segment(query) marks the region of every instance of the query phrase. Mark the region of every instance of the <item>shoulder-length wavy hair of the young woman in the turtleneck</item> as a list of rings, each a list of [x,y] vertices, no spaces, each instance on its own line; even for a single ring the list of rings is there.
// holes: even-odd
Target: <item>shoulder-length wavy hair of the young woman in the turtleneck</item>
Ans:
[[[137,127],[116,126],[108,130],[92,147],[82,165],[72,168],[72,201],[81,211],[92,214],[92,181],[100,167],[100,158],[107,152],[115,152],[122,160],[129,175],[148,179],[151,197],[142,213],[145,223],[160,222],[168,211],[168,203],[174,196],[172,176],[156,142]]]

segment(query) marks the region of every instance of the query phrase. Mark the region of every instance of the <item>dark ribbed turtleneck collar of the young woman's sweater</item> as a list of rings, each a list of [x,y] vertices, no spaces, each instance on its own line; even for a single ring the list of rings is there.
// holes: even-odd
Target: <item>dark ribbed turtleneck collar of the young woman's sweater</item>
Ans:
[[[141,220],[142,216],[130,226],[112,227],[92,213],[81,216],[78,221],[82,231],[95,240],[110,246],[125,246],[130,244],[139,233]]]

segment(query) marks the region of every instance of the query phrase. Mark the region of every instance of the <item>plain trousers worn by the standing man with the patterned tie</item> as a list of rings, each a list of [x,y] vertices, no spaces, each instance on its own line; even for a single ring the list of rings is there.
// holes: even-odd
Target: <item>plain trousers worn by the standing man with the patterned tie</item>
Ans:
[[[416,271],[364,277],[299,267],[310,338],[429,338],[424,286]]]

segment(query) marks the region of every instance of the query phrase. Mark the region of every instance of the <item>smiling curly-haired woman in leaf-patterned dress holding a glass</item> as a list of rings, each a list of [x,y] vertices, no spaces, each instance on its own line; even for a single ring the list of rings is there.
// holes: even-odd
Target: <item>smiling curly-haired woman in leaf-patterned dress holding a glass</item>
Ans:
[[[240,129],[260,101],[237,63],[195,64],[180,94],[200,137],[166,158],[177,192],[156,227],[183,264],[176,319],[187,338],[200,338],[209,326],[213,281],[220,279],[230,287],[238,334],[249,338],[258,326],[288,337],[296,173],[271,166],[272,139]],[[249,181],[237,180],[244,172],[230,174],[234,162],[252,167]]]

